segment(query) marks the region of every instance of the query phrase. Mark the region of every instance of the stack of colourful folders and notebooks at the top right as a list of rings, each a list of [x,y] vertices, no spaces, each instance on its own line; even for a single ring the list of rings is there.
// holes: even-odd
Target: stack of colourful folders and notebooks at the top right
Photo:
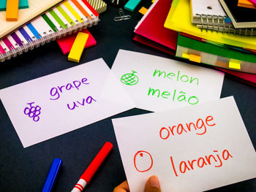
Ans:
[[[255,8],[238,6],[238,0],[157,0],[134,39],[256,85]]]

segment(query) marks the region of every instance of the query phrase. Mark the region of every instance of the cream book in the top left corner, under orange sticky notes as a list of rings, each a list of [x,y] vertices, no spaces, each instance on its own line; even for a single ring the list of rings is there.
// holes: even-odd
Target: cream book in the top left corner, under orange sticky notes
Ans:
[[[61,1],[63,0],[29,0],[29,9],[19,9],[18,21],[6,21],[6,12],[0,12],[0,39]]]

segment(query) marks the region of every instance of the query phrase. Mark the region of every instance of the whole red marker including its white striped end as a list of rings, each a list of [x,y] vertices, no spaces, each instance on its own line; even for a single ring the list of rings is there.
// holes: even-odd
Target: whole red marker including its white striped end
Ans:
[[[86,171],[82,174],[82,176],[78,180],[78,183],[75,185],[75,187],[72,189],[71,192],[83,191],[83,188],[85,188],[86,185],[90,182],[91,177],[94,176],[94,173],[97,171],[97,169],[105,160],[105,158],[108,156],[108,153],[110,153],[110,150],[112,150],[112,148],[113,148],[113,145],[110,142],[105,143],[102,149],[99,150],[99,153],[96,155],[94,160],[91,161],[91,164],[86,169]]]

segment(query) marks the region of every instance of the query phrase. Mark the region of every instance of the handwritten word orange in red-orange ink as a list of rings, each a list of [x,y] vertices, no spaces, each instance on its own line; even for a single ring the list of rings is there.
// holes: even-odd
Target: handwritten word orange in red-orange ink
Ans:
[[[186,125],[178,123],[177,126],[168,126],[168,128],[162,127],[159,131],[159,136],[161,139],[168,139],[171,136],[174,137],[175,134],[183,134],[191,131],[195,131],[198,135],[203,135],[206,134],[206,126],[211,127],[216,125],[216,123],[211,123],[212,120],[214,120],[214,118],[208,115],[205,121],[198,118],[195,123],[186,123]]]

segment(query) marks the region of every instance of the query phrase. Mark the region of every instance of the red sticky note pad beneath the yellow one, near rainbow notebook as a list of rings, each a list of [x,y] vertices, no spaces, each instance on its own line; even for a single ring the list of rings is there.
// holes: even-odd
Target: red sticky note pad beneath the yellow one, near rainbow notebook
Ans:
[[[81,32],[89,34],[89,37],[86,41],[86,45],[84,48],[91,47],[96,45],[96,40],[94,37],[91,35],[91,33],[88,31],[88,29],[83,29]],[[72,45],[75,42],[75,37],[77,36],[78,33],[67,35],[66,37],[61,37],[61,39],[56,39],[56,42],[58,43],[59,47],[61,48],[61,51],[64,55],[67,55],[70,50]]]

